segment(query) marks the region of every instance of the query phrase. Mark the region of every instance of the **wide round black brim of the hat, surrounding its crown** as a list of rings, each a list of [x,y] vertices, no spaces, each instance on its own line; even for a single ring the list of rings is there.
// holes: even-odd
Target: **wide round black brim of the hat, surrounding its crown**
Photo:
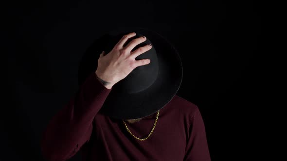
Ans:
[[[157,32],[145,28],[117,28],[108,34],[114,36],[119,31],[140,33],[152,42],[157,52],[159,73],[151,86],[138,93],[121,93],[116,90],[117,84],[115,84],[99,113],[115,119],[136,119],[149,116],[163,108],[179,90],[183,75],[179,53]],[[93,48],[93,54],[98,54],[96,58],[103,50],[101,49],[100,45]]]

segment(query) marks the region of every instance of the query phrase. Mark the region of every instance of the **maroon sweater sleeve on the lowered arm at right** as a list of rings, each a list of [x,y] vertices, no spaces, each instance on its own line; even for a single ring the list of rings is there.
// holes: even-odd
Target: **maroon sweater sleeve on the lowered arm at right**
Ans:
[[[184,161],[211,161],[205,127],[198,108],[190,123]]]

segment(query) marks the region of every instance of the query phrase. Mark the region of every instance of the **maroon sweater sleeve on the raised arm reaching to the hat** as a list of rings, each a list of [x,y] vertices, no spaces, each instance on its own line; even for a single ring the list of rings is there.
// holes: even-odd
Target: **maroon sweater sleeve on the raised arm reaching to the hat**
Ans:
[[[93,72],[43,131],[41,152],[49,161],[66,161],[90,140],[92,123],[111,89]]]

